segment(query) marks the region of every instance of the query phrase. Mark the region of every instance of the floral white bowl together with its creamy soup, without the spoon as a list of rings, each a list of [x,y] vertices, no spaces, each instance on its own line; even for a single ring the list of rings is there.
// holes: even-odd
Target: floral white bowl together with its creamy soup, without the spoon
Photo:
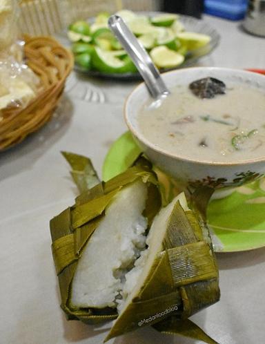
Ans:
[[[162,77],[170,95],[159,106],[142,83],[124,111],[151,162],[193,188],[236,187],[264,174],[264,75],[198,67]]]

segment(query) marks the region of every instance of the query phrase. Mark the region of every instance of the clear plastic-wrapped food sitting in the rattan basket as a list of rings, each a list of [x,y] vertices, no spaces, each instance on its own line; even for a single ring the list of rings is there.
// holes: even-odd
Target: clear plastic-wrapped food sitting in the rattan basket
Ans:
[[[39,88],[39,78],[23,61],[18,19],[17,1],[0,0],[0,111],[26,107]]]

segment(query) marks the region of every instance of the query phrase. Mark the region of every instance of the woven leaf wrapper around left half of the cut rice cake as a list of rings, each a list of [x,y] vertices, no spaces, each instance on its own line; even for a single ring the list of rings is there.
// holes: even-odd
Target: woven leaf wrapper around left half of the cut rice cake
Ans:
[[[101,182],[92,189],[85,189],[76,198],[72,207],[50,220],[52,255],[59,279],[61,308],[66,312],[69,320],[79,319],[85,323],[97,324],[117,317],[116,309],[110,307],[104,309],[72,307],[71,283],[82,249],[104,217],[106,207],[123,187],[137,180],[142,180],[148,187],[148,198],[143,215],[148,218],[150,224],[161,207],[161,198],[155,173],[150,170],[148,164],[141,162],[106,183]]]

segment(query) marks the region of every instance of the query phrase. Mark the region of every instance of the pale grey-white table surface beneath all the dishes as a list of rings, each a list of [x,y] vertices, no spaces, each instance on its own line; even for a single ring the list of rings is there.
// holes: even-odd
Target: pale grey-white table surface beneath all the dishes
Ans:
[[[204,16],[221,41],[201,66],[264,68],[265,38],[240,21]],[[74,202],[77,189],[60,151],[89,156],[101,171],[112,142],[126,131],[122,108],[136,82],[73,72],[52,120],[19,146],[0,154],[0,343],[102,343],[110,324],[66,321],[50,250],[49,220]],[[217,254],[221,300],[192,317],[221,344],[264,343],[265,247]],[[199,343],[142,328],[109,343]]]

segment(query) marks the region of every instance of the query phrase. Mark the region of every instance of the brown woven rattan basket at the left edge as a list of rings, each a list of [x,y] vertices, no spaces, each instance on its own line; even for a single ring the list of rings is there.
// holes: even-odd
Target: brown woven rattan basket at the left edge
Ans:
[[[21,142],[52,116],[73,66],[70,51],[51,37],[25,37],[26,64],[41,79],[41,91],[26,108],[6,108],[0,118],[0,151]]]

